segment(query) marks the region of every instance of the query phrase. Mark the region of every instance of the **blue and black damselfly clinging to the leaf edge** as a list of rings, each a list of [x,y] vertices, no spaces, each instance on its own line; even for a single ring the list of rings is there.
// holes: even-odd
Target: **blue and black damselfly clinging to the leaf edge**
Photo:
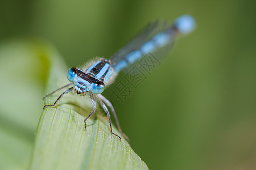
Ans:
[[[44,109],[55,106],[57,101],[64,94],[67,94],[72,90],[74,90],[77,95],[89,94],[92,100],[93,111],[84,120],[85,128],[86,120],[88,120],[88,118],[96,111],[97,99],[101,107],[108,115],[110,133],[117,136],[121,141],[121,137],[113,133],[112,123],[107,106],[110,107],[114,115],[119,133],[128,139],[126,135],[122,133],[113,105],[108,99],[102,96],[101,93],[105,90],[106,86],[109,86],[109,84],[114,81],[115,77],[121,70],[146,56],[148,53],[161,52],[161,50],[165,49],[166,47],[172,46],[177,35],[189,33],[194,27],[195,21],[190,15],[180,16],[172,25],[159,21],[149,24],[144,31],[142,31],[138,36],[135,36],[134,39],[122,49],[118,50],[118,52],[110,57],[110,59],[100,58],[97,61],[89,63],[84,68],[77,69],[72,67],[69,69],[67,78],[72,83],[58,88],[57,90],[44,96],[43,99],[49,95],[52,95],[58,90],[71,85],[73,86],[65,90],[53,104],[44,105]]]

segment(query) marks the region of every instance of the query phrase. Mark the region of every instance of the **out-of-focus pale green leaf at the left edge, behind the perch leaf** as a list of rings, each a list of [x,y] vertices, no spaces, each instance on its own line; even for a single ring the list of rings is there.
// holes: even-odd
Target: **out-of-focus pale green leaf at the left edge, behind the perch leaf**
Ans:
[[[27,169],[52,51],[35,40],[0,44],[0,169]]]

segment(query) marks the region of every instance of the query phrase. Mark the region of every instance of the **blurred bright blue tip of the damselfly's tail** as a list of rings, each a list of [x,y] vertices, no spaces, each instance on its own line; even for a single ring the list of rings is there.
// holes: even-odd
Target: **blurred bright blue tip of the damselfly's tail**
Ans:
[[[186,34],[193,31],[196,26],[196,22],[191,15],[186,14],[177,18],[174,22],[174,25],[179,30],[179,32]]]

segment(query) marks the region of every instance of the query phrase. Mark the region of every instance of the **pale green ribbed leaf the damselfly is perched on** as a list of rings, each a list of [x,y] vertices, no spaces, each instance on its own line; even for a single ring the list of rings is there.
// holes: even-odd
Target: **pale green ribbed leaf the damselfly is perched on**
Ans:
[[[55,50],[48,56],[47,93],[69,83],[63,59]],[[52,104],[63,91],[47,97],[44,104]],[[123,137],[120,142],[110,134],[109,123],[102,117],[104,113],[101,110],[97,108],[97,114],[86,122],[88,126],[85,130],[84,118],[92,112],[89,97],[67,94],[56,107],[44,109],[36,130],[30,168],[148,169]],[[113,128],[113,131],[119,134],[117,129]]]

